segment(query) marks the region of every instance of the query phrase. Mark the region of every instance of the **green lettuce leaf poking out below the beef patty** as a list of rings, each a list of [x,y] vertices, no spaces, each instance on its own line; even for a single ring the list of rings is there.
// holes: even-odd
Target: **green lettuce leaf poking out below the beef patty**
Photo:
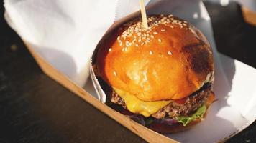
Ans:
[[[186,126],[188,123],[192,122],[195,119],[204,117],[204,114],[206,113],[206,105],[203,105],[199,107],[194,114],[191,115],[191,117],[186,116],[180,116],[176,117],[177,121],[182,123],[183,126]]]

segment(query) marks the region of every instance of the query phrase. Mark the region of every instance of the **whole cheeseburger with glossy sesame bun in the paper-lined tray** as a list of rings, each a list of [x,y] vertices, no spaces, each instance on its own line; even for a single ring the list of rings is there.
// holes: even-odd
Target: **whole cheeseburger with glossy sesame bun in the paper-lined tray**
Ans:
[[[99,44],[93,71],[106,104],[157,132],[203,121],[214,102],[214,60],[206,37],[173,15],[134,18]]]

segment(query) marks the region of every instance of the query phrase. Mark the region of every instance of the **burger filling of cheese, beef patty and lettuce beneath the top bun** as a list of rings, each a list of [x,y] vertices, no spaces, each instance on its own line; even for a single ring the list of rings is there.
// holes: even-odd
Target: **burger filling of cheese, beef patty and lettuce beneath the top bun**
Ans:
[[[204,116],[206,102],[211,95],[211,84],[204,84],[201,89],[184,99],[144,102],[119,89],[111,93],[111,102],[119,104],[135,114],[154,119],[175,119],[183,125]]]

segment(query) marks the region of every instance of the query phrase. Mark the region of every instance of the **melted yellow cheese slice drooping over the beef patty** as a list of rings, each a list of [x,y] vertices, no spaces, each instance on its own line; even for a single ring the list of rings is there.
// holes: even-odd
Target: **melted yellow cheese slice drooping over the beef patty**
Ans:
[[[135,97],[132,94],[129,94],[129,92],[122,91],[121,89],[114,88],[114,91],[117,94],[119,94],[119,96],[122,97],[122,99],[124,99],[127,109],[130,112],[142,114],[145,117],[149,117],[151,114],[154,114],[155,112],[162,109],[171,102],[171,100],[145,102],[140,99],[137,99],[137,97]]]

